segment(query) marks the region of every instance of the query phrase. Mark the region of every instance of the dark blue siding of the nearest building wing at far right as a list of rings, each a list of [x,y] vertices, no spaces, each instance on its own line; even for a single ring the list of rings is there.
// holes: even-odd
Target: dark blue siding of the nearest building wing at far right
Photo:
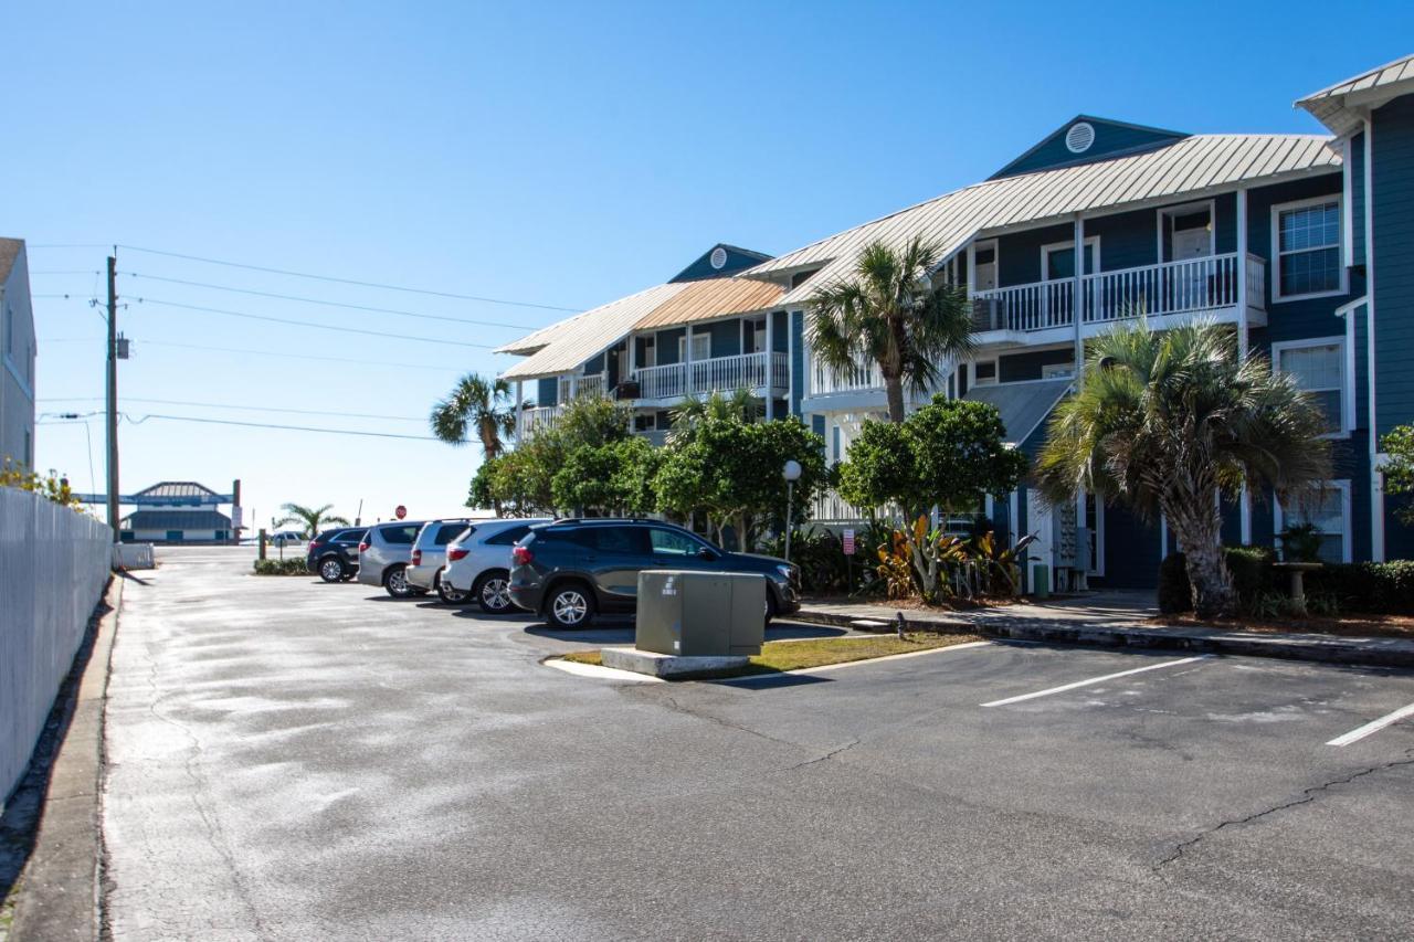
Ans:
[[[1376,430],[1414,419],[1414,95],[1373,115]],[[1398,528],[1397,528],[1398,529]],[[1389,532],[1396,536],[1396,532]]]

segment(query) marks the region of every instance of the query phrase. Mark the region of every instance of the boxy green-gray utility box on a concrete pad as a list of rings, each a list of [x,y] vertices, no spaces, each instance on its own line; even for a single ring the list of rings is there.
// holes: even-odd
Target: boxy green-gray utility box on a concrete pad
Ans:
[[[638,574],[639,651],[713,658],[761,653],[766,577],[677,569]]]

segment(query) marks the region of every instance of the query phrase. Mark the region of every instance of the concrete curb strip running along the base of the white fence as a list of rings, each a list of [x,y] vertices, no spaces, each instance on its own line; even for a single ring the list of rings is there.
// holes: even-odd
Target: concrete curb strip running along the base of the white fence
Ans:
[[[124,581],[115,573],[109,584],[110,610],[99,620],[74,714],[54,758],[40,833],[16,902],[16,942],[100,938],[103,709]]]

